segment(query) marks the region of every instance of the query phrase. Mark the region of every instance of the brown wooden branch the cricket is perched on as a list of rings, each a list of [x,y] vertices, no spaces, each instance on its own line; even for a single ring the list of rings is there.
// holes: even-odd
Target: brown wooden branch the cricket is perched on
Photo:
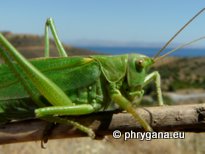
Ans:
[[[155,131],[205,131],[205,104],[144,107],[136,111],[150,123]],[[101,112],[70,118],[91,127],[98,137],[110,135],[114,130],[143,131],[133,117],[126,112]],[[0,126],[0,144],[40,140],[47,124],[45,121],[35,119]],[[49,138],[83,136],[87,135],[72,126],[57,125]]]

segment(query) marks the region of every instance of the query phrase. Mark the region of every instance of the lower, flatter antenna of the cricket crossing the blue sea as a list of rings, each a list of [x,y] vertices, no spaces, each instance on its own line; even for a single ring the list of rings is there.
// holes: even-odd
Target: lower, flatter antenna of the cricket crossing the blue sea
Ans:
[[[160,56],[160,57],[156,57],[156,58],[154,59],[154,61],[155,61],[155,62],[156,62],[156,61],[159,61],[160,59],[162,59],[162,58],[164,58],[164,57],[170,55],[171,53],[175,52],[176,50],[179,50],[179,49],[184,48],[184,47],[186,47],[186,46],[188,46],[188,45],[194,44],[194,43],[196,43],[196,42],[198,42],[198,41],[200,41],[200,40],[203,40],[203,39],[205,39],[205,36],[200,37],[200,38],[197,38],[197,39],[195,39],[195,40],[193,40],[193,41],[191,41],[191,42],[182,44],[182,45],[180,45],[180,46],[174,48],[173,50],[167,52],[166,54],[164,54],[164,55],[162,55],[162,56]]]

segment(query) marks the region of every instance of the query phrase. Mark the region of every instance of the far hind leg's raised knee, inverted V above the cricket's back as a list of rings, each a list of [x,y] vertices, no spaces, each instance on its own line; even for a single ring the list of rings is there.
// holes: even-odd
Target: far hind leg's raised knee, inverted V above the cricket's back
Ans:
[[[51,33],[53,35],[53,38],[54,38],[54,41],[56,43],[56,46],[57,46],[57,49],[58,49],[58,52],[59,52],[59,56],[61,57],[68,57],[66,51],[64,50],[63,48],[63,45],[57,35],[57,31],[56,31],[56,27],[55,27],[55,24],[54,24],[54,21],[52,18],[48,18],[46,20],[46,24],[45,24],[45,57],[49,57],[49,35],[48,35],[48,30],[51,30]]]

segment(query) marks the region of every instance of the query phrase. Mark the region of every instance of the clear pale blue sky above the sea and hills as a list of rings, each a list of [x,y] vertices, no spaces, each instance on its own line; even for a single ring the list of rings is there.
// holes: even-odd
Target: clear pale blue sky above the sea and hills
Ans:
[[[6,0],[0,5],[0,31],[43,35],[46,18],[53,17],[66,43],[161,45],[203,7],[204,1],[196,0]],[[173,43],[203,35],[205,13]]]

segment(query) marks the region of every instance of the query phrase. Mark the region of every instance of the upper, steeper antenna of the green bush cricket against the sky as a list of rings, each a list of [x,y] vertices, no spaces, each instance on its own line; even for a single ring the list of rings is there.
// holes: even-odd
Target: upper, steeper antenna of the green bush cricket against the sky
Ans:
[[[172,42],[172,40],[184,29],[186,28],[197,16],[199,16],[205,8],[201,9],[195,16],[193,16],[180,30],[176,32],[174,36],[157,52],[153,59],[159,56],[159,54]]]

